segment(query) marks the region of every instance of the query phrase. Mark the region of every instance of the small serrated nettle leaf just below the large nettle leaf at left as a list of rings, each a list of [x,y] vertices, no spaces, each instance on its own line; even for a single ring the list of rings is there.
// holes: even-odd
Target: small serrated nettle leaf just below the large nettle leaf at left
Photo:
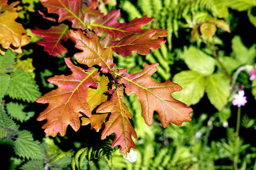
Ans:
[[[15,118],[16,120],[19,120],[20,122],[26,122],[35,114],[35,112],[33,111],[24,112],[23,110],[25,107],[26,106],[19,103],[11,102],[6,104],[6,109],[10,116]]]

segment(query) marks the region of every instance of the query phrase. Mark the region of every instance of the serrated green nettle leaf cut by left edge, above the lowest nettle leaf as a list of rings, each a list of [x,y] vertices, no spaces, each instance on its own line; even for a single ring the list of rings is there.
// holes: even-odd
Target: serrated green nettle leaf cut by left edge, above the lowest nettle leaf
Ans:
[[[18,126],[13,122],[12,118],[6,115],[2,107],[0,107],[0,138],[8,138],[15,135]]]

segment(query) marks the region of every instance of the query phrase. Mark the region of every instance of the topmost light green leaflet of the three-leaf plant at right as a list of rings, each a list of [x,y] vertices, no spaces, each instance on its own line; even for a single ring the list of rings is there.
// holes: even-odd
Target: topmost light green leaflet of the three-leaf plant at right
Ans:
[[[189,46],[183,53],[184,60],[192,71],[209,75],[214,71],[215,60],[194,46]]]

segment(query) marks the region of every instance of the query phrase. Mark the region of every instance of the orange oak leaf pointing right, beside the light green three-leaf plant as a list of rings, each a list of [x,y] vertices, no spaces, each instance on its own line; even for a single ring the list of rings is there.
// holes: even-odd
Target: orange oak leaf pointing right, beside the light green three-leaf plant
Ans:
[[[146,64],[140,73],[125,75],[122,81],[125,83],[126,94],[136,95],[141,104],[142,116],[148,125],[153,122],[154,111],[157,111],[163,127],[167,127],[170,122],[181,125],[184,121],[191,121],[189,114],[193,110],[172,97],[172,92],[178,92],[182,87],[170,80],[159,83],[151,79],[156,66],[157,63],[150,66]]]

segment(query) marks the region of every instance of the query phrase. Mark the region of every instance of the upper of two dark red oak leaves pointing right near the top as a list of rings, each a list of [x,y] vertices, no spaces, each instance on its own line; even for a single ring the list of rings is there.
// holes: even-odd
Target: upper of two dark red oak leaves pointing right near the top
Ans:
[[[119,23],[117,18],[120,16],[120,10],[112,10],[104,18],[91,23],[93,30],[101,36],[103,32],[107,32],[113,36],[113,39],[124,38],[131,34],[143,31],[141,27],[152,22],[153,18],[144,15],[142,18],[134,18],[129,23]]]

